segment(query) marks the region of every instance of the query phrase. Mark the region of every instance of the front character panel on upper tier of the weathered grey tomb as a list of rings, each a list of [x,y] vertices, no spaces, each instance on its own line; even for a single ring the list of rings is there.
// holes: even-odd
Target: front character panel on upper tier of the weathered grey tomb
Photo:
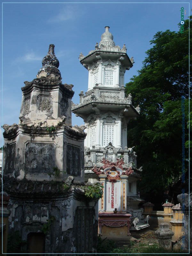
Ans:
[[[37,114],[48,114],[52,115],[53,113],[53,98],[51,96],[38,96],[37,100]]]

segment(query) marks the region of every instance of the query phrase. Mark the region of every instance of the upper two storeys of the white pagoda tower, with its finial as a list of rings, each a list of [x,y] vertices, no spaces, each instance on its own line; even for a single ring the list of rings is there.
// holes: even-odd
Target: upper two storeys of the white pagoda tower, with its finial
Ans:
[[[125,93],[124,74],[133,66],[133,59],[130,60],[126,50],[125,44],[122,48],[115,45],[107,26],[95,50],[86,56],[80,53],[80,63],[89,72],[88,90],[85,94],[81,91],[80,103],[73,104],[72,110],[84,119],[87,127],[86,148],[98,151],[110,143],[113,151],[127,149],[127,124],[131,118],[139,116],[139,107],[134,108],[131,94]],[[115,155],[110,157],[116,161]],[[97,163],[100,159],[97,152],[91,161]]]

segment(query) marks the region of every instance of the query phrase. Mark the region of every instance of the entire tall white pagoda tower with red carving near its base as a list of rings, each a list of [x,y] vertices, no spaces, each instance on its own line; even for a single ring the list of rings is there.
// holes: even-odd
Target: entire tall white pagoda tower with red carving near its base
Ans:
[[[117,217],[121,221],[124,221],[122,216],[128,218],[131,213],[130,224],[124,223],[129,234],[130,225],[130,230],[139,230],[148,227],[148,224],[144,223],[142,209],[138,207],[142,199],[137,191],[137,180],[140,179],[142,167],[137,168],[134,147],[127,147],[127,125],[130,119],[139,116],[140,108],[134,108],[132,95],[125,93],[124,74],[134,63],[126,50],[125,44],[122,48],[115,45],[109,27],[105,27],[95,50],[86,56],[80,53],[80,63],[89,72],[88,89],[85,93],[80,92],[79,104],[72,103],[72,112],[83,118],[83,128],[87,133],[84,142],[85,181],[98,180],[103,186],[99,203],[100,220],[104,218],[107,221],[106,218],[114,210],[120,214]],[[132,221],[136,217],[139,223],[135,228]],[[106,223],[111,225],[110,220]],[[116,224],[118,228],[122,223]]]

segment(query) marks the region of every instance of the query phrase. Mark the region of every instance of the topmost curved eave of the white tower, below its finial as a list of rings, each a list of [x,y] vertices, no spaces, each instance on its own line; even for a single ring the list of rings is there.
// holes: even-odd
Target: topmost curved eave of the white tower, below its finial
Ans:
[[[121,63],[124,65],[126,69],[132,68],[133,64],[131,60],[129,59],[129,56],[125,52],[109,52],[109,51],[95,51],[87,56],[85,56],[83,59],[80,60],[80,63],[88,69],[88,65],[92,64],[94,61],[98,60],[96,57],[97,55],[100,55],[103,59],[118,59],[120,56],[124,57],[124,60],[121,61]],[[109,57],[110,56],[110,57]]]

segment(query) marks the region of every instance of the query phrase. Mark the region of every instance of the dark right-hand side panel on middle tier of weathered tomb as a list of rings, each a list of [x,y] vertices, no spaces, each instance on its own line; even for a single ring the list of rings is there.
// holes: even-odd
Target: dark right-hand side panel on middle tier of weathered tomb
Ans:
[[[82,169],[82,159],[80,148],[67,145],[67,173],[73,176],[80,176]]]

